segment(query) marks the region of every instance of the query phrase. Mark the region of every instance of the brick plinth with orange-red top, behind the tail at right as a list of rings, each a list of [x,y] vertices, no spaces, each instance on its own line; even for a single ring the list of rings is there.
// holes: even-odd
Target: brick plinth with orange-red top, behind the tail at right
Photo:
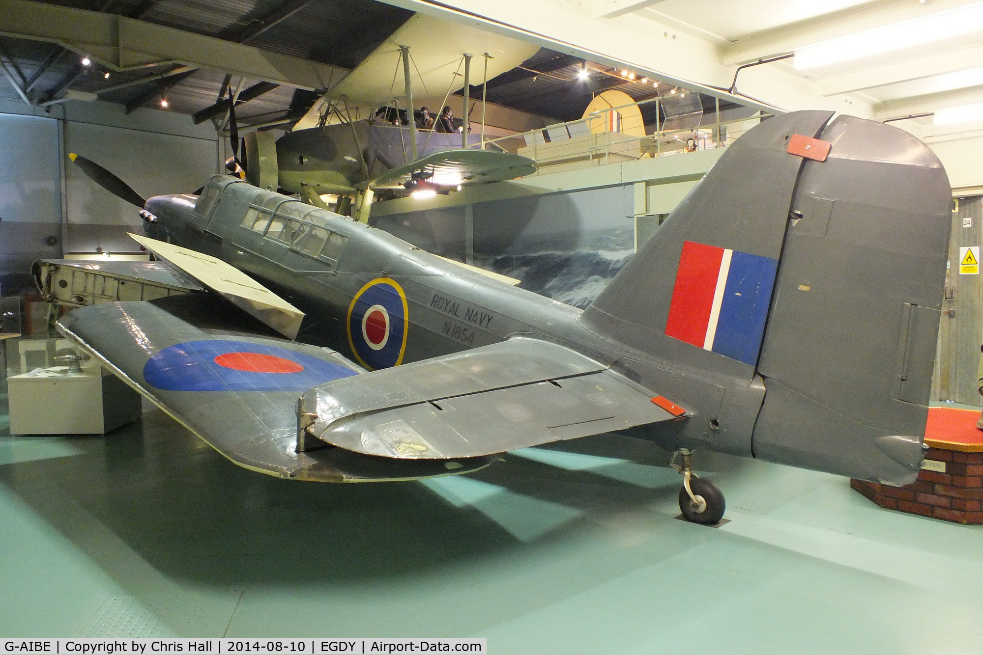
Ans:
[[[983,524],[983,431],[979,409],[930,408],[925,443],[930,447],[914,483],[903,487],[850,480],[850,486],[883,508]]]

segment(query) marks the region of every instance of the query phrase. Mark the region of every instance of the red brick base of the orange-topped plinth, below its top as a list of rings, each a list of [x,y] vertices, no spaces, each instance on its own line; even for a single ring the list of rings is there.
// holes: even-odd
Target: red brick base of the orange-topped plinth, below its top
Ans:
[[[922,517],[983,524],[983,453],[931,448],[926,460],[945,463],[945,472],[922,469],[903,487],[850,480],[850,487],[888,510]]]

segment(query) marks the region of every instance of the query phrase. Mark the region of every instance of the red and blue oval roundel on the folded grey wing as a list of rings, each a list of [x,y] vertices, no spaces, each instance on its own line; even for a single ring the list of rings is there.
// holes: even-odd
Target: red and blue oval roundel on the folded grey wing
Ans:
[[[144,379],[164,391],[305,391],[357,373],[333,361],[269,344],[207,339],[147,359]]]

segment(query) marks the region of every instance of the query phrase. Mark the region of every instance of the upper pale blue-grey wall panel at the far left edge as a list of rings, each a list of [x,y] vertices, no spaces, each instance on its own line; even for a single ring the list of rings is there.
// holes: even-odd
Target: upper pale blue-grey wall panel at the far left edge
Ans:
[[[58,168],[58,121],[0,114],[3,223],[61,223]],[[60,238],[60,230],[55,235]]]

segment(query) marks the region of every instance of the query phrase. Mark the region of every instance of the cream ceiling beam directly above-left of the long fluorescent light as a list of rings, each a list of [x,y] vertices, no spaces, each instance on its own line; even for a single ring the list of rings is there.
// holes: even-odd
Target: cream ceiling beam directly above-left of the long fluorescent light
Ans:
[[[738,38],[724,47],[723,65],[747,64],[787,54],[838,36],[910,21],[966,4],[966,0],[934,0],[924,4],[912,0],[868,3],[811,21]]]

